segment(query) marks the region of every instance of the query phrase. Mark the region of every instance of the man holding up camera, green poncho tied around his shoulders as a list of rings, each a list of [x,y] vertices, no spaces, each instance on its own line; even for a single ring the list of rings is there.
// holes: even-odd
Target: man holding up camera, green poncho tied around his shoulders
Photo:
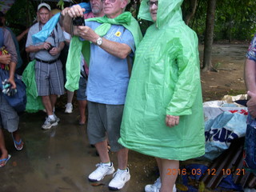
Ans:
[[[72,6],[66,12],[63,11],[65,30],[80,37],[72,38],[66,65],[67,70],[69,67],[70,70],[79,67],[75,66],[78,62],[74,60],[80,57],[82,46],[82,52],[86,49],[82,44],[90,45],[87,47],[90,49],[90,73],[86,88],[89,111],[87,132],[89,142],[98,150],[101,162],[88,178],[91,182],[98,182],[107,174],[114,173],[107,150],[107,134],[111,150],[118,154],[118,170],[109,183],[109,188],[120,190],[130,180],[130,171],[127,168],[128,150],[118,143],[130,78],[128,61],[132,62],[135,46],[142,36],[138,22],[129,12],[123,13],[127,0],[102,0],[102,3],[105,16],[87,19],[86,26],[66,25],[71,24],[71,18],[83,16],[85,10],[81,6]],[[88,44],[88,41],[91,43]],[[72,61],[69,59],[71,57],[74,58]],[[69,78],[74,77],[73,84],[77,83],[77,74],[70,74],[68,71],[67,74],[66,87],[72,86]]]

